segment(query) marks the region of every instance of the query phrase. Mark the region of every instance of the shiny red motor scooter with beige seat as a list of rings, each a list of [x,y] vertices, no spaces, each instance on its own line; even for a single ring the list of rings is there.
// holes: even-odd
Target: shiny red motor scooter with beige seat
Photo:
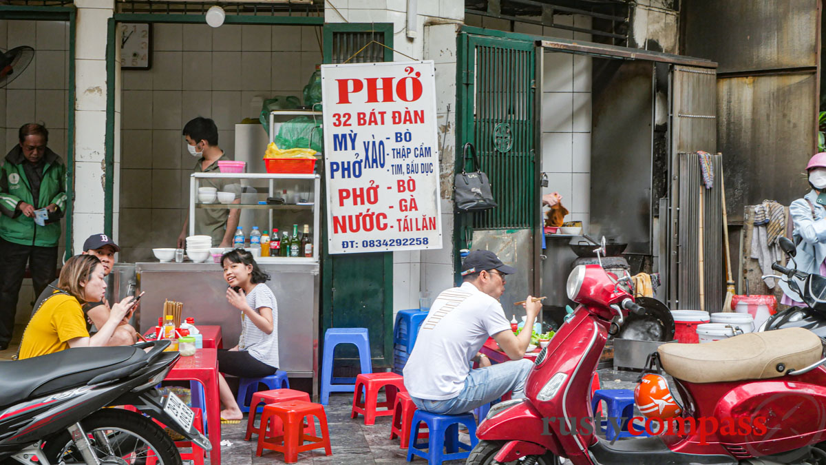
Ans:
[[[600,265],[572,271],[567,295],[577,309],[536,358],[526,398],[491,407],[468,464],[826,464],[826,358],[803,328],[663,344],[652,357],[676,384],[681,416],[648,420],[650,437],[598,437],[589,387],[612,319],[645,312],[622,281]]]

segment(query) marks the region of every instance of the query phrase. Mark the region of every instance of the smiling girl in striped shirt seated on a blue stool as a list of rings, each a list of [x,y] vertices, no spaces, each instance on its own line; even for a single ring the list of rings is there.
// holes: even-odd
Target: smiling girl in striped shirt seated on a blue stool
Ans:
[[[260,378],[278,370],[278,302],[264,284],[269,276],[260,270],[253,255],[235,249],[221,256],[224,279],[229,288],[226,300],[239,309],[241,336],[238,345],[218,351],[218,369],[244,378]],[[237,423],[244,414],[235,402],[224,376],[219,376],[221,420]]]

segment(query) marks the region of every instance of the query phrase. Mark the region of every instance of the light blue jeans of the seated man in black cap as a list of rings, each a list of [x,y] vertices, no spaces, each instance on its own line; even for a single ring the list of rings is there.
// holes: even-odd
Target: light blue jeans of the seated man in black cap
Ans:
[[[452,399],[428,400],[411,395],[411,400],[420,410],[458,415],[496,400],[509,391],[513,392],[514,399],[521,399],[525,397],[525,381],[531,367],[534,367],[534,362],[522,359],[477,368],[468,373],[462,391]]]

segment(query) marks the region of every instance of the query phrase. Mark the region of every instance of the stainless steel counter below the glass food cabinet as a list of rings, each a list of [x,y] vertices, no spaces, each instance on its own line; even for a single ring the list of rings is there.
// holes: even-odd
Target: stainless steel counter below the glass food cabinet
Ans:
[[[278,301],[278,355],[289,376],[313,377],[318,348],[319,265],[315,261],[284,259],[261,263],[270,276],[267,285]],[[195,325],[218,324],[224,348],[235,347],[241,333],[241,315],[226,301],[223,269],[216,263],[136,263],[140,300],[140,331],[158,324],[164,300],[183,302],[183,318]]]

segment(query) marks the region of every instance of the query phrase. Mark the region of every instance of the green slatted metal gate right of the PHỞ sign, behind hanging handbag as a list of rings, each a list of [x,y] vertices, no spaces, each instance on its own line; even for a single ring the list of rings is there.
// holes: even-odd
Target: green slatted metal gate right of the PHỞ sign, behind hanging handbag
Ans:
[[[537,225],[535,54],[533,41],[506,32],[465,27],[458,36],[457,169],[472,168],[462,159],[472,142],[499,206],[458,215],[457,249],[468,247],[474,230]]]

